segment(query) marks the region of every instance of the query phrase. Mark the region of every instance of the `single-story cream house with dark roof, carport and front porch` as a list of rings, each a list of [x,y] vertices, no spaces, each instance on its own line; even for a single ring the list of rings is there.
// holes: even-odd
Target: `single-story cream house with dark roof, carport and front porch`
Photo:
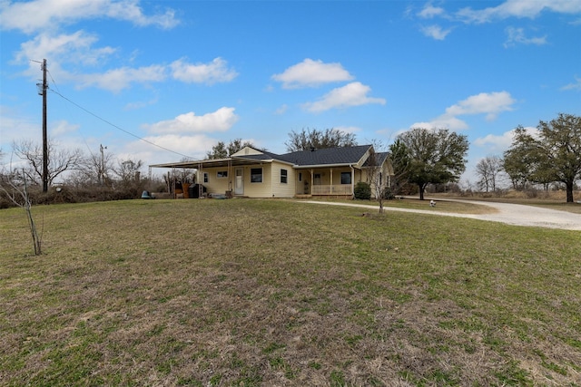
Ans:
[[[245,147],[227,159],[150,167],[196,169],[194,182],[208,194],[247,198],[352,197],[357,182],[389,185],[393,176],[388,153],[376,153],[372,145],[281,155]]]

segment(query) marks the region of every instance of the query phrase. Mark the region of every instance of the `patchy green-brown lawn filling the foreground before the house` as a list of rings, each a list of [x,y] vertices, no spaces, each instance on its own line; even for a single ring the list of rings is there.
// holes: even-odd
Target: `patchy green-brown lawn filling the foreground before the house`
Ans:
[[[0,384],[581,385],[581,233],[361,213],[0,210]]]

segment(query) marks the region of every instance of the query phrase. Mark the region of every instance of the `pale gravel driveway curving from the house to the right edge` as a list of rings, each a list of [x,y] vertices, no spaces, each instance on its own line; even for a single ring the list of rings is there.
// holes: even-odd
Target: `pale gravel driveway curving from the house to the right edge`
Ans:
[[[454,200],[446,199],[447,201],[461,201],[462,203],[472,203],[478,204],[480,206],[488,206],[497,209],[497,212],[489,214],[456,214],[449,212],[439,212],[439,211],[428,211],[423,209],[411,209],[411,208],[389,208],[384,207],[387,211],[402,211],[402,212],[415,212],[418,214],[429,214],[429,215],[441,215],[445,217],[457,217],[457,218],[472,218],[487,220],[491,222],[506,223],[508,225],[515,226],[527,226],[527,227],[548,227],[548,228],[562,228],[566,230],[579,230],[581,231],[581,215],[573,214],[566,211],[558,211],[549,208],[540,208],[533,206],[525,206],[521,204],[509,204],[509,203],[492,203],[487,201],[473,201],[473,200]],[[438,198],[438,201],[442,199]],[[350,204],[350,203],[334,203],[334,202],[321,202],[308,200],[305,203],[314,204],[327,204],[334,206],[350,206],[359,208],[370,208],[378,210],[377,206],[370,206],[364,204]],[[426,201],[426,206],[428,206],[429,201]]]

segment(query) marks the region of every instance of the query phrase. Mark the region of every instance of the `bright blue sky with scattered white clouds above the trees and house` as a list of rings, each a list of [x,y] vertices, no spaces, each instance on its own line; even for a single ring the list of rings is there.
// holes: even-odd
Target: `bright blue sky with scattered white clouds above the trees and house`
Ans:
[[[49,136],[145,164],[422,126],[468,136],[474,179],[518,125],[581,114],[581,0],[0,0],[0,34],[4,163],[42,140],[44,58]]]

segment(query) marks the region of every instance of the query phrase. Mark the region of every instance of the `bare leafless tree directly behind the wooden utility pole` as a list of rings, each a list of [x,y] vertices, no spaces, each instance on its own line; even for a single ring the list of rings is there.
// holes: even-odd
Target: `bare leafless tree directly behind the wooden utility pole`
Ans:
[[[67,150],[58,148],[54,140],[48,141],[48,185],[66,170],[80,169],[83,164],[83,152],[80,149]],[[16,156],[26,160],[29,169],[25,170],[27,179],[39,183],[43,179],[43,148],[33,140],[21,140],[13,143]]]

